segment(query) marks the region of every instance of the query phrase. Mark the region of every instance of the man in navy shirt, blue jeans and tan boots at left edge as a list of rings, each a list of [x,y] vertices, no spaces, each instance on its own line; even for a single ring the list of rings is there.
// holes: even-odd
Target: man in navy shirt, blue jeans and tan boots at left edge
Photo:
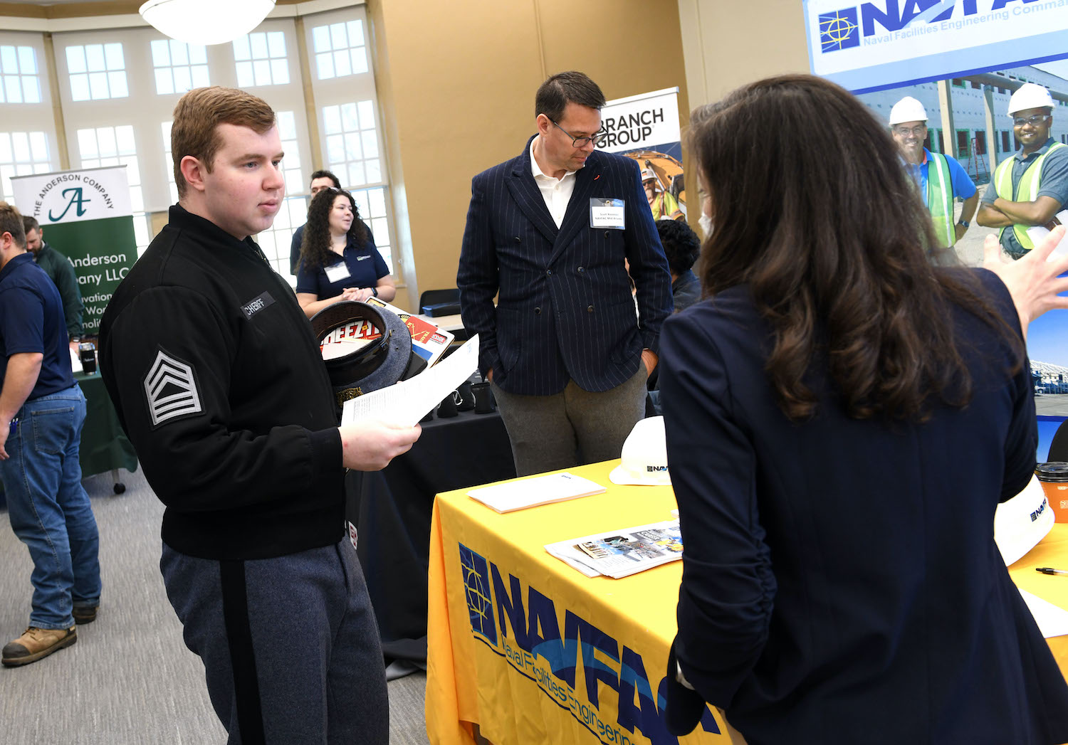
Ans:
[[[81,487],[85,398],[74,382],[59,290],[0,202],[0,477],[11,527],[33,559],[30,625],[3,648],[18,667],[78,640],[96,618],[99,536]]]

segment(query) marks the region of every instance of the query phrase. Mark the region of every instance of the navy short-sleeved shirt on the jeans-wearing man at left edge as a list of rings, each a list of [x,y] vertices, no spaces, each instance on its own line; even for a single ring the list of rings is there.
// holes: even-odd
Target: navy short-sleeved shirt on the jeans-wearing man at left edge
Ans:
[[[74,385],[63,301],[56,285],[29,253],[0,269],[0,384],[12,354],[41,352],[41,374],[27,400]]]

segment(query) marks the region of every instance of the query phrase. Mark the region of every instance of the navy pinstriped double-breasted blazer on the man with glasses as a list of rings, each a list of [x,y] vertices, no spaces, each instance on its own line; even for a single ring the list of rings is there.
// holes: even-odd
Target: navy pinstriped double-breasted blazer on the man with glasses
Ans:
[[[623,200],[626,228],[591,227],[593,197]],[[528,140],[519,157],[471,181],[456,284],[464,326],[478,334],[480,370],[492,369],[503,390],[547,396],[569,379],[595,393],[624,383],[643,348],[658,351],[672,311],[668,259],[638,163],[592,153],[557,229],[534,181]]]

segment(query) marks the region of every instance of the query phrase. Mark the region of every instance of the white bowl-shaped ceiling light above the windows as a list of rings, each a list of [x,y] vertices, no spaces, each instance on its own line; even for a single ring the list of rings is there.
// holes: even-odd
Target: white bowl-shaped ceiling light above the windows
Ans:
[[[225,44],[260,26],[274,0],[148,0],[141,17],[187,44]]]

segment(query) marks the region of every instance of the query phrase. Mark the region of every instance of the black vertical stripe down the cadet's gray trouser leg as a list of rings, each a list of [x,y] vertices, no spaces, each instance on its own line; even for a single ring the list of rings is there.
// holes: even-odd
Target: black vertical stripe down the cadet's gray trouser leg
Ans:
[[[237,729],[244,745],[265,742],[264,717],[260,708],[260,681],[252,651],[249,599],[245,585],[245,561],[219,561],[222,589],[222,619],[230,643],[230,665],[234,670],[234,706]]]

